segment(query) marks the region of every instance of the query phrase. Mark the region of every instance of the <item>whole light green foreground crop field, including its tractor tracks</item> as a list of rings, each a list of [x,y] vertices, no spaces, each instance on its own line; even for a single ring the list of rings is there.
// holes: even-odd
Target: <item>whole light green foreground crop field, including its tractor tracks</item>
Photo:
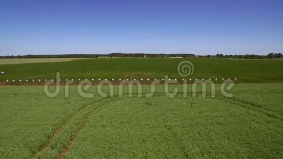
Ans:
[[[283,84],[237,84],[227,99],[48,98],[41,87],[0,87],[1,158],[283,158]],[[190,90],[191,85],[187,86]],[[117,88],[117,86],[115,86]],[[217,86],[218,88],[218,86]],[[103,90],[107,92],[107,87]],[[208,93],[209,94],[209,93]]]

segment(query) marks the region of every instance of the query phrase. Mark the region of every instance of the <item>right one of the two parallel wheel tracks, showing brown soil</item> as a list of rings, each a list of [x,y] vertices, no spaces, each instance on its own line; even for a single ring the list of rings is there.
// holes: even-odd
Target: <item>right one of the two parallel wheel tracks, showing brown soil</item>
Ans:
[[[117,99],[120,100],[120,99]],[[115,100],[115,101],[117,101]],[[72,149],[72,147],[75,145],[75,142],[78,139],[78,136],[80,134],[81,131],[83,131],[83,129],[85,128],[86,124],[89,122],[89,119],[98,114],[99,112],[101,112],[101,110],[105,109],[107,106],[102,105],[101,107],[97,108],[97,109],[93,109],[91,110],[87,117],[83,120],[83,122],[81,123],[81,125],[77,128],[76,133],[72,136],[71,140],[69,141],[68,145],[61,151],[61,153],[58,155],[58,159],[63,159],[64,155],[68,154],[68,152]]]

